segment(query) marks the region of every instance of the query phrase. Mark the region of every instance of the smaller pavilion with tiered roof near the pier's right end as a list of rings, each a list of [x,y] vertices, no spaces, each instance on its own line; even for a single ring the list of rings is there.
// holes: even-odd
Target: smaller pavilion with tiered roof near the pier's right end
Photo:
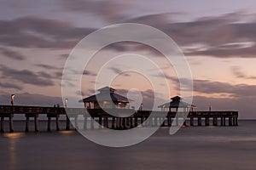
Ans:
[[[193,111],[196,107],[195,105],[189,105],[188,103],[183,102],[182,98],[179,96],[175,96],[171,99],[171,102],[159,105],[158,108],[161,108],[161,111],[172,111],[172,109],[177,111],[178,108],[183,108],[183,111]]]

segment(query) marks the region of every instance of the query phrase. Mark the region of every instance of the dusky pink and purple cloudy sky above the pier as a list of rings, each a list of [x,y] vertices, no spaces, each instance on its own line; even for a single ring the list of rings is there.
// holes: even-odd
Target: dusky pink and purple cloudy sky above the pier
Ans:
[[[138,23],[165,32],[181,48],[193,77],[197,111],[212,105],[212,111],[239,111],[240,118],[255,119],[255,11],[253,0],[1,0],[0,105],[10,105],[10,94],[15,94],[15,105],[61,104],[62,71],[76,44],[103,26]],[[164,71],[171,96],[163,100],[179,94],[177,75],[162,54],[131,42],[98,52],[77,93],[95,93],[95,77],[108,57],[135,51]],[[123,67],[107,68],[118,75],[113,88],[124,95],[137,88],[150,109],[152,86],[142,75],[122,73]]]

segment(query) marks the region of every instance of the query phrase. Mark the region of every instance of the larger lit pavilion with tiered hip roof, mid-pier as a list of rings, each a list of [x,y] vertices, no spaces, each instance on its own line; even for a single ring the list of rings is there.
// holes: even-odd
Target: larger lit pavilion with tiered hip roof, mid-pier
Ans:
[[[129,105],[129,99],[119,94],[115,94],[116,90],[113,88],[105,87],[100,88],[97,91],[100,93],[80,100],[80,102],[84,102],[85,108],[125,108]]]

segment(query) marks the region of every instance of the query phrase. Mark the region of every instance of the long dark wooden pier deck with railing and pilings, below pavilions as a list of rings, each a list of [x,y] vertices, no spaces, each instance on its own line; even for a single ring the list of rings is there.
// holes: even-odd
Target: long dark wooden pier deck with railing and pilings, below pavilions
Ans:
[[[67,111],[67,112],[66,112]],[[108,114],[113,113],[113,114]],[[114,129],[124,129],[141,126],[179,126],[178,120],[183,119],[184,126],[237,126],[238,111],[190,111],[188,114],[184,112],[164,112],[154,111],[154,116],[150,116],[152,111],[134,111],[131,109],[87,109],[84,108],[65,108],[63,107],[41,107],[41,106],[12,106],[0,105],[1,129],[4,130],[4,118],[9,118],[9,132],[14,132],[13,117],[14,115],[24,115],[26,117],[26,132],[29,131],[30,118],[34,118],[35,131],[38,132],[38,116],[46,115],[48,117],[47,129],[50,131],[51,118],[55,118],[56,129],[59,128],[59,117],[66,115],[66,130],[70,129],[70,119],[75,128],[79,128],[78,117],[84,117],[83,128],[95,128],[98,122],[104,127]],[[67,116],[68,115],[68,116]],[[150,116],[150,120],[149,119]],[[92,118],[91,118],[92,117]],[[177,117],[177,118],[175,118]],[[147,122],[145,122],[148,120]],[[162,124],[160,125],[160,122]],[[203,123],[204,122],[204,123]],[[90,123],[90,125],[89,125]],[[109,126],[109,123],[111,125]],[[101,126],[100,126],[101,127]]]

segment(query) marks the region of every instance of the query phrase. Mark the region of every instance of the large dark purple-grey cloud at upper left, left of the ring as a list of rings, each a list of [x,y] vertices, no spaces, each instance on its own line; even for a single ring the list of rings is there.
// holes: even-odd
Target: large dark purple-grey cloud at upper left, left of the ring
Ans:
[[[0,20],[0,43],[20,48],[73,48],[91,31],[94,29],[40,17]]]

